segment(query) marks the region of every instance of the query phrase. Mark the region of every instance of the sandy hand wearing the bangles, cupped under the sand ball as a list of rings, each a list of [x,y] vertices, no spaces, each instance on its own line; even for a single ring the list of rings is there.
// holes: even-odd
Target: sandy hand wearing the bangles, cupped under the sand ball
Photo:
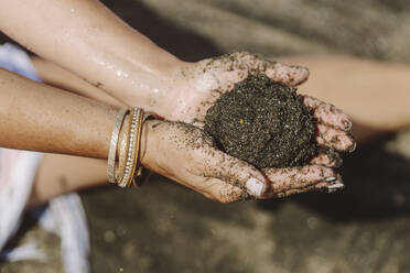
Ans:
[[[220,203],[343,187],[332,168],[320,165],[262,173],[217,150],[201,129],[181,122],[147,121],[142,145],[145,167]]]

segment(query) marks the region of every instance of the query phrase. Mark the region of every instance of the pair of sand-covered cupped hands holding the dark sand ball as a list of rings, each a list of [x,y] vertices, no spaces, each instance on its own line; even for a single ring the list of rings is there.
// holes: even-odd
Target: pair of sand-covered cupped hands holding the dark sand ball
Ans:
[[[220,95],[248,75],[258,73],[289,86],[298,86],[309,77],[309,70],[304,67],[263,61],[248,53],[184,64],[176,73],[174,70],[170,85],[172,91],[166,101],[166,109],[172,110],[165,111],[163,107],[158,112],[177,122],[148,123],[148,132],[153,136],[147,139],[144,165],[222,203],[236,201],[249,195],[272,198],[312,189],[332,192],[343,187],[341,177],[331,167],[341,163],[337,152],[353,151],[355,143],[348,133],[352,122],[332,105],[303,97],[317,122],[317,143],[331,148],[303,167],[259,171],[217,150],[209,136],[198,129],[203,125],[207,109]]]

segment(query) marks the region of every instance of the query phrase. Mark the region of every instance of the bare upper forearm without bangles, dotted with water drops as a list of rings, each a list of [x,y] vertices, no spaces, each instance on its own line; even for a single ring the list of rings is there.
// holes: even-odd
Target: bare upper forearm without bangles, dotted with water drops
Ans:
[[[179,62],[97,0],[0,3],[1,31],[122,101],[139,92],[140,106],[149,106],[150,83]]]

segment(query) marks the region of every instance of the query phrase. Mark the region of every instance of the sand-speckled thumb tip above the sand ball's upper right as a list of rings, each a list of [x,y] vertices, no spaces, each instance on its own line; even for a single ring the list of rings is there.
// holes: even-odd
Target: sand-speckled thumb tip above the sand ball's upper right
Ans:
[[[263,72],[271,80],[288,86],[298,86],[309,78],[309,69],[302,66],[291,66],[278,62],[266,62]]]

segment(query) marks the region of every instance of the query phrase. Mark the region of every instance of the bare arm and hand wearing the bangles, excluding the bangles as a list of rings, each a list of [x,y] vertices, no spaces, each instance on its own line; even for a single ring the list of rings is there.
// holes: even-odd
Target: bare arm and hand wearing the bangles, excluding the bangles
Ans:
[[[115,108],[3,69],[0,101],[0,146],[107,159]],[[342,185],[332,168],[321,165],[263,170],[267,178],[184,123],[148,121],[142,135],[144,166],[223,203]]]

